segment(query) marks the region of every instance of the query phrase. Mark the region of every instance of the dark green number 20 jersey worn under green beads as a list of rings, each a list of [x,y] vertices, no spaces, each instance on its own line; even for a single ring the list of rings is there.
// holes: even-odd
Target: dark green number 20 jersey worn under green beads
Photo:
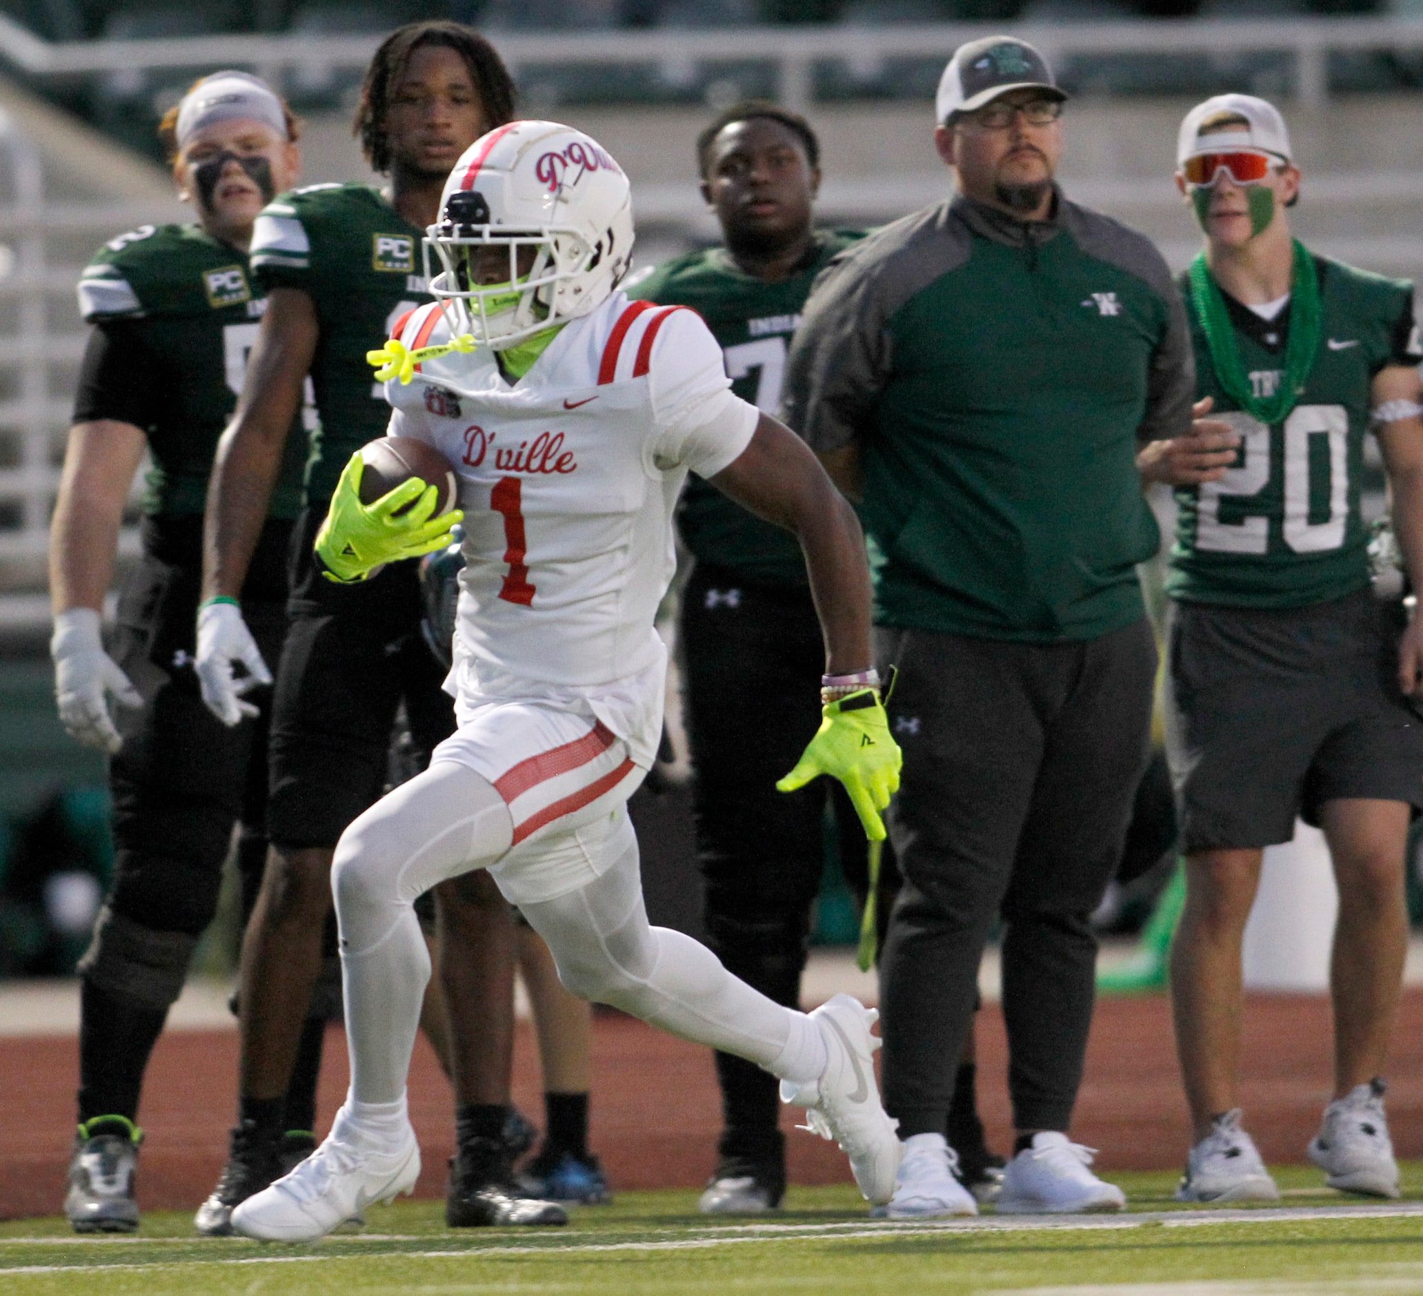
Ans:
[[[1321,336],[1295,407],[1265,426],[1221,389],[1191,285],[1183,276],[1197,394],[1215,400],[1241,437],[1220,481],[1177,487],[1175,545],[1167,592],[1191,602],[1298,608],[1369,585],[1368,530],[1359,513],[1372,383],[1390,365],[1417,365],[1413,285],[1323,256]],[[1264,319],[1222,292],[1235,345],[1258,399],[1285,369],[1289,306]]]

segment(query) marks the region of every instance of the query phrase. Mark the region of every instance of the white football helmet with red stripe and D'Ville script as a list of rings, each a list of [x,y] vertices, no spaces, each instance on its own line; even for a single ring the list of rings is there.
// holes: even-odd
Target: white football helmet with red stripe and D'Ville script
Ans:
[[[450,328],[504,350],[586,315],[628,273],[628,177],[582,131],[514,121],[475,140],[455,162],[440,222],[425,235],[430,292]],[[433,276],[431,248],[444,265]],[[507,269],[502,261],[491,269],[491,248],[507,252]]]

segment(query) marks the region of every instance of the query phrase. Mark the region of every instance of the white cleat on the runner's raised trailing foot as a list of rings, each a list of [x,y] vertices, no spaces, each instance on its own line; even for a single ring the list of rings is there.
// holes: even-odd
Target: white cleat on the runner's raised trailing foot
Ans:
[[[837,994],[810,1014],[825,1041],[827,1062],[820,1080],[794,1085],[781,1081],[781,1102],[807,1108],[801,1128],[834,1139],[850,1158],[859,1191],[875,1206],[894,1196],[904,1145],[879,1102],[874,1052],[879,1038],[869,1027],[879,1020],[852,994]]]

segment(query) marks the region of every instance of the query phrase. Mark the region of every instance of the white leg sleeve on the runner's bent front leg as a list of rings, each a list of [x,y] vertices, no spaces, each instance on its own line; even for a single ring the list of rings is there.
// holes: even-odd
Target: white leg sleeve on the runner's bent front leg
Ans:
[[[406,1092],[430,954],[413,902],[437,882],[497,860],[514,822],[472,769],[437,762],[401,783],[342,833],[332,867],[342,933],[351,1098]]]

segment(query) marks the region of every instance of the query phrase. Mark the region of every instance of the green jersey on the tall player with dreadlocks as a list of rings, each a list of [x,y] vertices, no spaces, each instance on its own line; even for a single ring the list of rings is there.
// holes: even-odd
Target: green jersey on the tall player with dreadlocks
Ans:
[[[324,506],[366,441],[386,432],[390,406],[366,352],[428,302],[417,229],[370,185],[309,185],[280,194],[258,216],[252,271],[265,291],[312,298],[320,336],[312,383],[320,423],[312,434],[306,490]]]

